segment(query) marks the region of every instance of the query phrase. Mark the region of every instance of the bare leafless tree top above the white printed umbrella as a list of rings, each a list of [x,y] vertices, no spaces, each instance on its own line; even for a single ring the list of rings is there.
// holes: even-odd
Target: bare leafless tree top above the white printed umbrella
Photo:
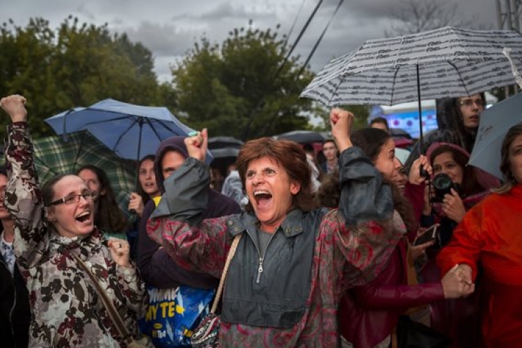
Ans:
[[[479,29],[473,18],[466,18],[452,0],[402,0],[390,17],[395,23],[384,31],[387,37],[420,33],[443,26]]]

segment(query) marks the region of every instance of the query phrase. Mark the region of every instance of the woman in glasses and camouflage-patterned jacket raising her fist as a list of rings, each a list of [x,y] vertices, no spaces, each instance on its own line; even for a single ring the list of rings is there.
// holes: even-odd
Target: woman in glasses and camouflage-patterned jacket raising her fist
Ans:
[[[109,242],[94,227],[94,199],[77,175],[59,175],[40,190],[26,122],[26,100],[0,100],[9,114],[6,163],[11,175],[5,204],[15,221],[15,255],[29,290],[29,347],[126,347],[93,281],[76,255],[99,278],[125,326],[137,334],[145,287],[129,262],[129,245]]]

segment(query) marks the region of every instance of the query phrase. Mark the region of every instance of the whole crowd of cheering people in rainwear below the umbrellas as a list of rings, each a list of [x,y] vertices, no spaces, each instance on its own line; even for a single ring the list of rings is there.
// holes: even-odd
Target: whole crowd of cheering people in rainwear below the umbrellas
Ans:
[[[333,109],[324,161],[255,139],[223,185],[206,129],[173,136],[139,161],[130,221],[104,168],[38,182],[25,103],[0,100],[6,347],[189,347],[224,269],[220,347],[522,340],[522,125],[498,154],[502,180],[469,166],[483,95],[448,100],[448,122],[400,156],[386,119],[352,132]],[[406,342],[419,328],[438,343]]]

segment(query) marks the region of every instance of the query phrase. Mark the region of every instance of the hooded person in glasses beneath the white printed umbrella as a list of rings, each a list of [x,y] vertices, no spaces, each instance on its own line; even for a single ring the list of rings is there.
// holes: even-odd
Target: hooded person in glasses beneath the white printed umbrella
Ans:
[[[437,107],[438,129],[425,134],[424,150],[433,143],[452,143],[471,153],[477,136],[480,113],[484,111],[485,106],[484,93],[443,100],[440,107]],[[409,170],[419,155],[420,144],[417,142],[404,166]]]

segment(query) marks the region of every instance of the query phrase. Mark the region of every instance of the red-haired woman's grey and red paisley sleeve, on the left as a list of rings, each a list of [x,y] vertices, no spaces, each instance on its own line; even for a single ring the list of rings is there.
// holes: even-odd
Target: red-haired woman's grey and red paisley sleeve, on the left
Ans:
[[[226,217],[202,219],[208,186],[208,167],[186,159],[165,180],[165,194],[148,221],[147,232],[180,266],[219,278],[232,236]]]

